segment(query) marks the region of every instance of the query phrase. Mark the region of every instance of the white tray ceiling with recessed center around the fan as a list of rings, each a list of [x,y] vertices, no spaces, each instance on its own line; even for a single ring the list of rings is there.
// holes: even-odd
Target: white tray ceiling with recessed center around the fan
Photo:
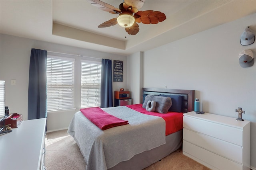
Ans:
[[[122,0],[102,0],[118,8]],[[256,12],[255,0],[146,0],[140,9],[163,12],[158,24],[138,23],[128,35],[118,24],[98,28],[116,18],[87,0],[0,0],[0,31],[30,39],[120,55],[146,51]],[[245,27],[248,25],[245,25]],[[58,52],[58,51],[56,51]]]

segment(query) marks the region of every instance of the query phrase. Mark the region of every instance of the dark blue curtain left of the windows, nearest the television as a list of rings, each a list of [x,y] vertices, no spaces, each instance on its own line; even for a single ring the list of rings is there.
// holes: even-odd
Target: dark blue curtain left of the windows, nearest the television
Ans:
[[[31,49],[28,82],[28,120],[47,117],[47,51]]]

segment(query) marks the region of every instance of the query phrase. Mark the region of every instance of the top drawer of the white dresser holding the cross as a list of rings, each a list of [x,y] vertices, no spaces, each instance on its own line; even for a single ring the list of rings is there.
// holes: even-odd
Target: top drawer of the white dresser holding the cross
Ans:
[[[183,127],[239,146],[243,146],[243,129],[226,126],[211,121],[195,119],[189,116],[183,117]]]

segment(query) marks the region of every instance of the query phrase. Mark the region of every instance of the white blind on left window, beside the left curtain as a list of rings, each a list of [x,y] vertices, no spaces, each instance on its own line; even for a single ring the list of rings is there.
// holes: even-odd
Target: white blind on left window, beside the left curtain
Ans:
[[[47,56],[47,110],[74,108],[74,61]]]

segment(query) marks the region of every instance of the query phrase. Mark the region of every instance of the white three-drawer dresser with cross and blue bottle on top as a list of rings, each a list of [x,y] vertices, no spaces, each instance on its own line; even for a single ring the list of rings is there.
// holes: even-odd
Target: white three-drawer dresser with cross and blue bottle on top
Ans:
[[[184,113],[183,154],[213,170],[250,170],[250,121]]]

